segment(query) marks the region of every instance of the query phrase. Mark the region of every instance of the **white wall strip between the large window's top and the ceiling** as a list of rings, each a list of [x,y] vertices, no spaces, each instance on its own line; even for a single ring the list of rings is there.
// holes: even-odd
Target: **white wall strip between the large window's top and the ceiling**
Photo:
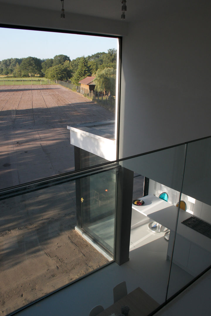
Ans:
[[[58,11],[53,11],[51,8],[40,10],[0,3],[0,23],[120,36],[127,34],[127,22],[122,23],[121,20],[114,21],[69,12],[65,12],[65,19],[61,19],[60,13],[61,3],[59,1]]]

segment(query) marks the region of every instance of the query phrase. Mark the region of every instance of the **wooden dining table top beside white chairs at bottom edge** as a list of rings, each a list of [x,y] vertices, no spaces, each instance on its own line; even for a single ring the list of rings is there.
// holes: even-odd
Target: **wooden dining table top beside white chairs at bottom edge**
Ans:
[[[98,316],[110,316],[113,313],[120,315],[121,306],[123,305],[130,307],[128,316],[147,316],[159,306],[158,302],[153,300],[150,295],[138,287],[99,313]]]

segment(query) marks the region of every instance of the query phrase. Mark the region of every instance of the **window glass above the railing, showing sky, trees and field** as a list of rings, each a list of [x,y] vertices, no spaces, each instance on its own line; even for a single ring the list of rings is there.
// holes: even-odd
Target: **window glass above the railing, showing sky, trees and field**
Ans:
[[[112,144],[115,154],[118,39],[6,27],[0,27],[0,32],[8,39],[7,47],[18,38],[16,50],[22,52],[22,58],[13,56],[0,61],[0,189],[77,170],[68,125],[86,123],[79,144],[88,145],[81,148],[91,152],[89,140],[100,138]],[[26,38],[27,51],[24,49]],[[80,52],[81,42],[87,42],[83,52]],[[69,56],[56,55],[55,43]],[[39,56],[28,57],[34,56],[34,47]],[[52,72],[55,67],[56,72]],[[99,76],[102,78],[100,73],[104,69],[111,73],[104,72],[103,78],[109,76],[110,79],[103,81],[100,91],[94,79],[98,80],[99,87]],[[100,121],[112,121],[112,128],[110,124],[103,126]],[[98,156],[106,152],[104,143],[99,143],[102,150],[93,152],[99,153]],[[102,163],[102,160],[93,159],[94,163]]]

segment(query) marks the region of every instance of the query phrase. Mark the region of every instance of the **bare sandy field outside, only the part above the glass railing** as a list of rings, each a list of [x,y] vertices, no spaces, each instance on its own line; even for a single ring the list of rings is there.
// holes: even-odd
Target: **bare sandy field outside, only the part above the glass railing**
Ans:
[[[59,85],[0,86],[0,189],[74,170],[67,125],[113,118]]]

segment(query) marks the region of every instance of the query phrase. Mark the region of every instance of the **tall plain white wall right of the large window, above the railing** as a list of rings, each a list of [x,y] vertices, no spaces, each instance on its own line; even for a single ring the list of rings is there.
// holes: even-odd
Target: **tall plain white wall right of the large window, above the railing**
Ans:
[[[130,25],[122,46],[120,158],[211,135],[210,28],[206,7]]]

